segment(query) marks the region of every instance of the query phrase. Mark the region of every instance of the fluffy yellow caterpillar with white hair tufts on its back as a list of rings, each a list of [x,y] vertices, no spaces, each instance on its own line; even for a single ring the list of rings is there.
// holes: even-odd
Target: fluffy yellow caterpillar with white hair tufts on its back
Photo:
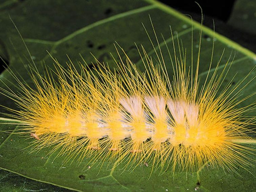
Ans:
[[[171,30],[173,53],[165,43],[167,61],[154,27],[153,32],[158,48],[153,46],[155,58],[136,45],[144,72],[118,44],[114,70],[97,58],[93,69],[86,62],[77,69],[71,60],[63,67],[52,57],[54,68],[45,67],[43,75],[35,63],[29,66],[34,88],[9,71],[19,91],[7,85],[0,90],[20,108],[9,109],[8,114],[20,121],[19,133],[35,138],[34,150],[52,147],[51,153],[59,150],[58,155],[68,160],[90,158],[91,164],[108,161],[136,167],[147,162],[155,169],[171,167],[173,171],[195,171],[205,163],[233,171],[250,166],[253,149],[242,143],[254,142],[248,136],[255,133],[249,128],[254,119],[242,114],[252,110],[253,104],[237,106],[249,98],[240,99],[239,93],[254,78],[240,86],[254,69],[232,88],[229,82],[221,90],[232,59],[221,72],[219,61],[210,73],[212,51],[205,83],[199,87],[201,44],[196,64],[188,65],[186,50],[178,38],[175,43]],[[202,31],[199,36],[201,41]]]

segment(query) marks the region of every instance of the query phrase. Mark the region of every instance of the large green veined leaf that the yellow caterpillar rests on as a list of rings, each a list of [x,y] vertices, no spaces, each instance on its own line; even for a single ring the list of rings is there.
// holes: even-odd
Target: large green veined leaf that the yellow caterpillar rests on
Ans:
[[[50,6],[49,6],[50,5]],[[79,6],[78,6],[79,5]],[[97,5],[97,6],[96,6]],[[94,61],[90,52],[100,61],[108,62],[113,67],[113,60],[109,56],[115,49],[113,43],[117,41],[126,50],[131,60],[143,69],[140,57],[133,42],[143,44],[150,56],[155,58],[153,47],[141,25],[144,23],[147,31],[156,46],[149,14],[152,18],[154,28],[158,34],[159,41],[163,46],[163,54],[166,61],[168,52],[164,49],[161,33],[165,37],[168,46],[172,47],[169,25],[172,30],[179,34],[183,47],[187,49],[187,63],[191,61],[191,33],[193,32],[193,62],[199,45],[199,32],[202,29],[202,50],[200,53],[200,77],[206,77],[211,60],[213,31],[201,26],[197,22],[176,12],[161,3],[147,1],[80,1],[77,4],[70,1],[36,1],[27,0],[17,4],[8,11],[19,28],[26,42],[31,56],[39,70],[41,62],[52,66],[52,59],[45,50],[57,58],[65,66],[69,55],[75,65],[82,61],[79,54],[90,63]],[[0,39],[9,57],[9,67],[17,70],[24,81],[31,84],[27,75],[26,65],[31,61],[24,44],[17,34],[7,11],[0,14],[0,24],[5,26],[0,29]],[[67,17],[65,14],[69,14]],[[38,15],[41,15],[40,17]],[[54,17],[52,17],[54,16]],[[230,55],[236,53],[233,65],[230,69],[231,75],[227,76],[228,83],[236,74],[235,83],[243,79],[255,66],[255,54],[241,47],[235,42],[215,33],[215,49],[213,57],[213,68],[216,66],[223,49],[220,66],[226,64]],[[176,36],[174,38],[177,38]],[[233,55],[232,55],[233,56]],[[26,58],[28,58],[26,60]],[[23,67],[24,66],[24,67]],[[221,67],[220,67],[221,68]],[[167,69],[171,71],[170,63]],[[248,78],[253,78],[255,71]],[[1,80],[15,91],[15,87],[5,79],[13,81],[7,71],[0,75]],[[243,97],[254,92],[256,84],[252,82],[241,91]],[[250,98],[241,105],[253,103],[255,98]],[[13,101],[6,97],[0,98],[0,104],[10,108],[16,108]],[[1,111],[5,110],[1,108]],[[255,113],[254,113],[255,115]],[[151,174],[149,167],[142,164],[133,171],[123,170],[122,165],[114,169],[108,162],[102,167],[88,167],[88,160],[84,159],[81,164],[74,161],[72,164],[64,164],[64,157],[56,157],[55,153],[48,155],[50,149],[41,150],[38,153],[30,153],[28,143],[33,138],[27,138],[7,133],[7,130],[17,128],[13,121],[1,119],[0,125],[0,168],[18,173],[22,176],[54,184],[67,189],[77,191],[254,191],[255,169],[251,167],[248,171],[239,168],[237,172],[225,173],[221,169],[209,167],[207,164],[197,173],[175,173],[167,170],[159,175],[159,171]],[[255,148],[254,146],[250,146]],[[254,158],[253,156],[252,158]],[[1,180],[0,180],[1,182]],[[199,182],[199,183],[198,183]],[[199,185],[200,184],[200,185]],[[38,183],[40,189],[44,186]],[[1,188],[0,188],[1,189]],[[7,189],[6,187],[4,189]]]

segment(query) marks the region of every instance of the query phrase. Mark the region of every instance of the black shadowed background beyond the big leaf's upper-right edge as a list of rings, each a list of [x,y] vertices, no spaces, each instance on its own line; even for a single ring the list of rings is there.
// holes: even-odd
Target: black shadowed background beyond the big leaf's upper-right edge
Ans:
[[[253,52],[256,52],[256,38],[255,34],[248,33],[229,25],[227,22],[231,16],[234,4],[236,0],[222,0],[222,1],[207,1],[207,0],[158,0],[170,7],[175,8],[183,14],[188,14],[198,22],[201,21],[200,7],[201,6],[204,14],[204,23],[203,25],[213,28],[213,20],[215,23],[215,30],[217,33],[228,37],[229,39],[235,41],[236,43],[250,49]],[[245,0],[246,2],[246,0]],[[256,10],[255,10],[256,12]],[[256,26],[255,23],[252,25]]]

